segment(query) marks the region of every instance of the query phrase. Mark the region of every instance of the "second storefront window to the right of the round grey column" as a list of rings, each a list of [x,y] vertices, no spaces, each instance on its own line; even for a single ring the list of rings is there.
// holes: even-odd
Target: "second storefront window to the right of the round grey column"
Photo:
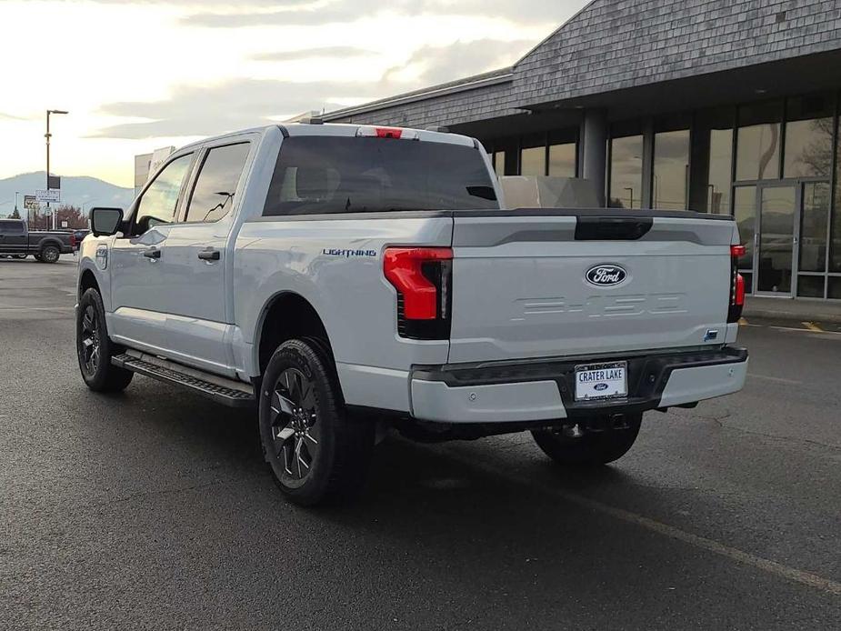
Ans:
[[[686,210],[688,184],[689,130],[655,134],[653,206]]]

